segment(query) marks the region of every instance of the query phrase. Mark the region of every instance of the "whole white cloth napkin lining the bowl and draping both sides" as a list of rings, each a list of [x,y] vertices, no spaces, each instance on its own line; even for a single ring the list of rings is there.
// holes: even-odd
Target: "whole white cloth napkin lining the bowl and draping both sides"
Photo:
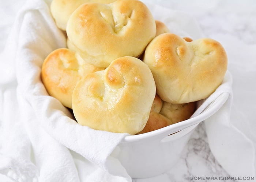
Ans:
[[[202,37],[197,23],[185,13],[147,5],[155,19],[165,22],[171,32],[193,39]],[[110,155],[128,134],[80,126],[71,119],[67,108],[48,96],[41,83],[45,57],[65,46],[65,35],[50,16],[49,2],[27,1],[16,17],[0,61],[0,174],[19,182],[132,181],[120,162]],[[230,74],[226,79],[227,84],[207,99],[196,114],[220,93],[230,94],[221,110],[206,121],[209,145],[231,175],[254,176],[252,143],[230,124]],[[240,149],[241,145],[246,151]],[[242,165],[230,163],[237,157]]]

